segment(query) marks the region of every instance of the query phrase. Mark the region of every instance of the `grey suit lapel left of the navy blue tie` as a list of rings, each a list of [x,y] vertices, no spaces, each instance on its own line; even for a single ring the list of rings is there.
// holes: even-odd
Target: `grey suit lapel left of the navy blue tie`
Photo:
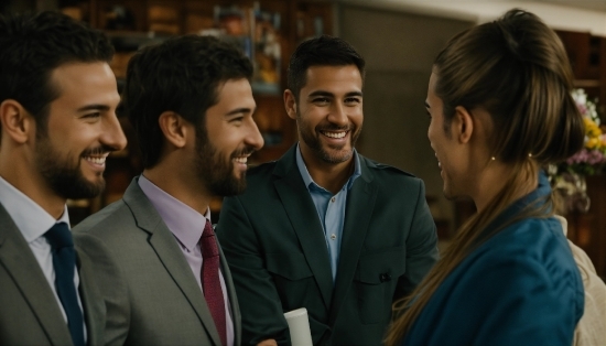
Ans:
[[[30,246],[2,205],[0,205],[0,264],[7,269],[19,286],[51,344],[72,345],[72,336],[55,295]]]

